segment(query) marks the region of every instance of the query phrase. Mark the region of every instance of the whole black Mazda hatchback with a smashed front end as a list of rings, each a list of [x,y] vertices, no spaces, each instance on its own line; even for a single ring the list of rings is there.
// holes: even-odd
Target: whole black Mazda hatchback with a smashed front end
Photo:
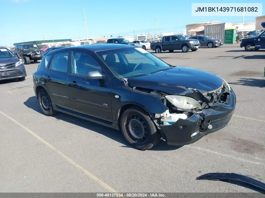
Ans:
[[[191,144],[224,128],[236,106],[224,79],[123,44],[51,51],[33,81],[45,115],[60,111],[121,130],[139,150],[161,138],[169,145]]]

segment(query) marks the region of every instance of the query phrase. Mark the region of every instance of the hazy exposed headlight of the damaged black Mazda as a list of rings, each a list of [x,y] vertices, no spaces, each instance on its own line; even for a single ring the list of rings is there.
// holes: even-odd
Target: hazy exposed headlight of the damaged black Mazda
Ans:
[[[195,99],[187,96],[167,95],[166,99],[175,107],[178,107],[178,110],[196,109],[201,106]]]

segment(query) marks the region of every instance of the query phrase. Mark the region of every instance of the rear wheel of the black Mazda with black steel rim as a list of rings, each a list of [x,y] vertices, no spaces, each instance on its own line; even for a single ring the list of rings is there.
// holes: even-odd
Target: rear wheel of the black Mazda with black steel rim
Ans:
[[[52,107],[50,96],[44,89],[40,89],[38,93],[38,100],[40,109],[45,115],[52,116],[56,114],[57,111]]]

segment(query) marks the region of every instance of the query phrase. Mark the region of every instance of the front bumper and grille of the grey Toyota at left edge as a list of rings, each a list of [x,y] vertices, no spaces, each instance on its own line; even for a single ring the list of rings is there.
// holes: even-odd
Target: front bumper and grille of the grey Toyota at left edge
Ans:
[[[26,77],[26,69],[24,64],[21,64],[17,67],[9,67],[8,69],[1,69],[0,68],[0,80],[6,79],[17,79]]]

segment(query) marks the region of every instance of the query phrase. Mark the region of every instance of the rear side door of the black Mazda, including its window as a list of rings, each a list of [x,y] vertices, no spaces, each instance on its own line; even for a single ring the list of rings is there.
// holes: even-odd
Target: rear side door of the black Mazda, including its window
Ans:
[[[72,107],[67,87],[69,65],[69,51],[55,53],[44,74],[44,82],[51,101],[58,107],[70,110]]]

